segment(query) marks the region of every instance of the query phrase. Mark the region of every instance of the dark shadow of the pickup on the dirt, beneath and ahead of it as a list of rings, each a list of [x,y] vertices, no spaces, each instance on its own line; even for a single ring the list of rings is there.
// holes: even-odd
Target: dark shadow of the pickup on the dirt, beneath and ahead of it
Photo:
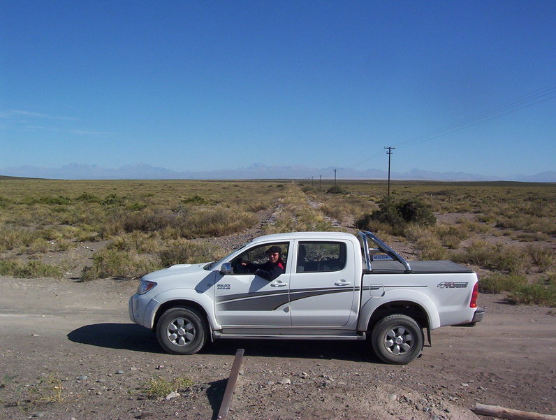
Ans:
[[[71,331],[67,337],[72,342],[109,349],[164,353],[156,336],[136,324],[91,324]],[[368,341],[217,340],[207,342],[199,354],[233,356],[239,348],[245,349],[245,356],[382,363]]]

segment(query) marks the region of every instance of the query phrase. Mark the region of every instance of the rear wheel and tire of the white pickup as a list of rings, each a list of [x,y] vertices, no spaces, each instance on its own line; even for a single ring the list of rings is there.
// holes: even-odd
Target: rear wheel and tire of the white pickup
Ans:
[[[405,365],[423,350],[423,329],[407,315],[388,315],[375,324],[371,341],[376,356],[382,361]]]

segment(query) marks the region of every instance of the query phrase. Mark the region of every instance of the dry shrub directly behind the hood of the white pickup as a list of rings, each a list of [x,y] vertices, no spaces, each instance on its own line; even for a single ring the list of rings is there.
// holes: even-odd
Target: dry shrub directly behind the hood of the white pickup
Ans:
[[[204,263],[216,261],[225,254],[224,250],[205,242],[175,240],[159,252],[162,266],[173,266],[182,263]]]

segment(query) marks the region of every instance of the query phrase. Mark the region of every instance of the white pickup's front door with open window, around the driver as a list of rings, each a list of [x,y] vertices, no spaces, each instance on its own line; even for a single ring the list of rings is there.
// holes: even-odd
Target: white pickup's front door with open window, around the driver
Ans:
[[[286,273],[268,281],[242,268],[240,261],[264,263],[270,246],[282,249]],[[231,262],[233,274],[217,273],[214,287],[214,314],[223,328],[240,326],[290,326],[288,242],[257,245]]]

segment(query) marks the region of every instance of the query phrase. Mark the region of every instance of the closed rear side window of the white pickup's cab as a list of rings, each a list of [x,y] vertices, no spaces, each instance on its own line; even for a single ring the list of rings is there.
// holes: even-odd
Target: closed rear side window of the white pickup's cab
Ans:
[[[344,242],[299,242],[295,273],[322,273],[343,270],[346,266]]]

